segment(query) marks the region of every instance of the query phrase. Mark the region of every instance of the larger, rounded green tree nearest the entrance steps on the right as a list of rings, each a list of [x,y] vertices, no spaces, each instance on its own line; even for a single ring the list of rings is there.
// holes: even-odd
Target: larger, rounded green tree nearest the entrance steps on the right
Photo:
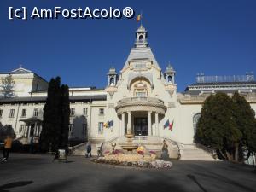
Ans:
[[[242,133],[233,115],[234,104],[229,96],[217,93],[209,96],[201,109],[195,141],[216,149],[224,159],[237,160]]]

